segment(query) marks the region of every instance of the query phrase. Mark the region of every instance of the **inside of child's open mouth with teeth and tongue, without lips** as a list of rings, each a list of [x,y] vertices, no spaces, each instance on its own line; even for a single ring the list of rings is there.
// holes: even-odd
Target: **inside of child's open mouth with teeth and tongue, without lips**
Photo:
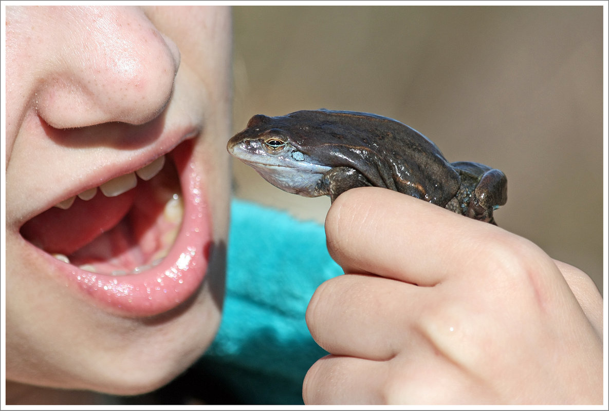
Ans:
[[[27,221],[21,235],[88,272],[117,276],[156,266],[182,222],[176,152],[62,201]]]

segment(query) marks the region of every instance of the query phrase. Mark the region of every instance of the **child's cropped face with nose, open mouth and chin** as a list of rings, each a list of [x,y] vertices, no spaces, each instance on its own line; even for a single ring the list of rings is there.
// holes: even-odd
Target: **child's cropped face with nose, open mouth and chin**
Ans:
[[[155,389],[219,324],[230,12],[7,7],[6,35],[7,379]]]

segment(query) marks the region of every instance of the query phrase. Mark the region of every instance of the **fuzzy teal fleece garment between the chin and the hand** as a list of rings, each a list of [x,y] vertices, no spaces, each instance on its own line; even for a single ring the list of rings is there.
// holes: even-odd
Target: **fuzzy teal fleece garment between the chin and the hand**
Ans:
[[[309,334],[306,307],[342,273],[321,224],[233,200],[222,322],[196,365],[222,387],[222,401],[303,404],[306,371],[327,354]]]

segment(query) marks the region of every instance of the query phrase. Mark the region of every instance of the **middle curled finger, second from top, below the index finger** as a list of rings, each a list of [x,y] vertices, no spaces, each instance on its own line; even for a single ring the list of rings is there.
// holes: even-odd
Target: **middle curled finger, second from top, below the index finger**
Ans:
[[[382,361],[421,339],[415,322],[430,291],[375,275],[340,275],[317,288],[306,322],[329,353]]]

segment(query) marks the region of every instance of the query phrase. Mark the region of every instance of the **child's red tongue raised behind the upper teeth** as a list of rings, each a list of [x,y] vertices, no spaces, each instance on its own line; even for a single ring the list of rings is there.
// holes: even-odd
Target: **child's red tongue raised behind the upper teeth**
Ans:
[[[67,210],[52,207],[27,221],[21,235],[46,252],[72,254],[116,226],[132,206],[136,191],[116,197],[98,191],[89,201],[77,197]]]

